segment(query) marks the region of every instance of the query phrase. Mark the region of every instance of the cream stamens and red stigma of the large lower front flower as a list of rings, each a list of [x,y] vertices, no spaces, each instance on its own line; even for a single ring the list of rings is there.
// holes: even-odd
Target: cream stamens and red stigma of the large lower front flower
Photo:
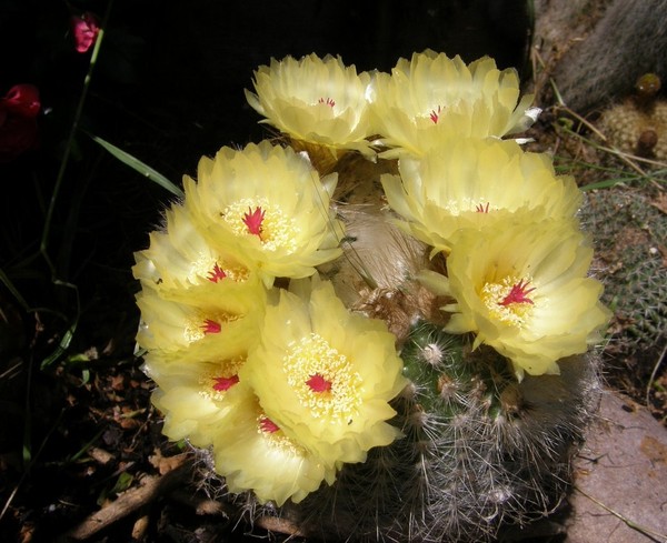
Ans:
[[[361,376],[321,335],[311,333],[289,345],[283,359],[288,384],[315,419],[349,423],[360,404]]]

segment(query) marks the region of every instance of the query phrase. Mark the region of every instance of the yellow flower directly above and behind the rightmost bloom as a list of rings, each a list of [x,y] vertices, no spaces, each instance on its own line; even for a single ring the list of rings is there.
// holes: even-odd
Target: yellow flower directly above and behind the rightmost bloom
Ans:
[[[544,153],[525,152],[514,140],[455,139],[421,159],[399,160],[399,175],[384,174],[398,225],[448,252],[460,229],[480,229],[518,211],[544,218],[573,218],[583,193],[570,175],[556,175]]]

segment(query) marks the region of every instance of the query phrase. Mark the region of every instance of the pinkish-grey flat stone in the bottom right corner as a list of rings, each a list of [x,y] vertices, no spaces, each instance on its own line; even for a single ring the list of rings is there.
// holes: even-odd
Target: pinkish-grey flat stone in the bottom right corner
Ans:
[[[667,429],[605,394],[577,460],[565,543],[667,542]]]

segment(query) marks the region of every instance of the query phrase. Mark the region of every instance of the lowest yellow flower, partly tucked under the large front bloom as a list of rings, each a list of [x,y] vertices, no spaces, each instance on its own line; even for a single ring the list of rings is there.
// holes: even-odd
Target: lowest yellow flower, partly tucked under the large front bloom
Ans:
[[[250,389],[239,383],[232,396],[235,409],[218,426],[212,449],[215,470],[230,492],[252,491],[260,503],[280,506],[299,503],[323,481],[334,483],[336,469],[286,435]]]

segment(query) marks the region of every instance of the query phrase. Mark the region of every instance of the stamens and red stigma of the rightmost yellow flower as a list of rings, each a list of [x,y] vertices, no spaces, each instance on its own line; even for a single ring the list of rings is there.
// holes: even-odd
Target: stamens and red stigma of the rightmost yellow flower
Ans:
[[[499,283],[486,283],[481,289],[481,300],[496,319],[521,326],[532,312],[535,302],[528,298],[535,286],[529,288],[531,279],[506,276]]]

